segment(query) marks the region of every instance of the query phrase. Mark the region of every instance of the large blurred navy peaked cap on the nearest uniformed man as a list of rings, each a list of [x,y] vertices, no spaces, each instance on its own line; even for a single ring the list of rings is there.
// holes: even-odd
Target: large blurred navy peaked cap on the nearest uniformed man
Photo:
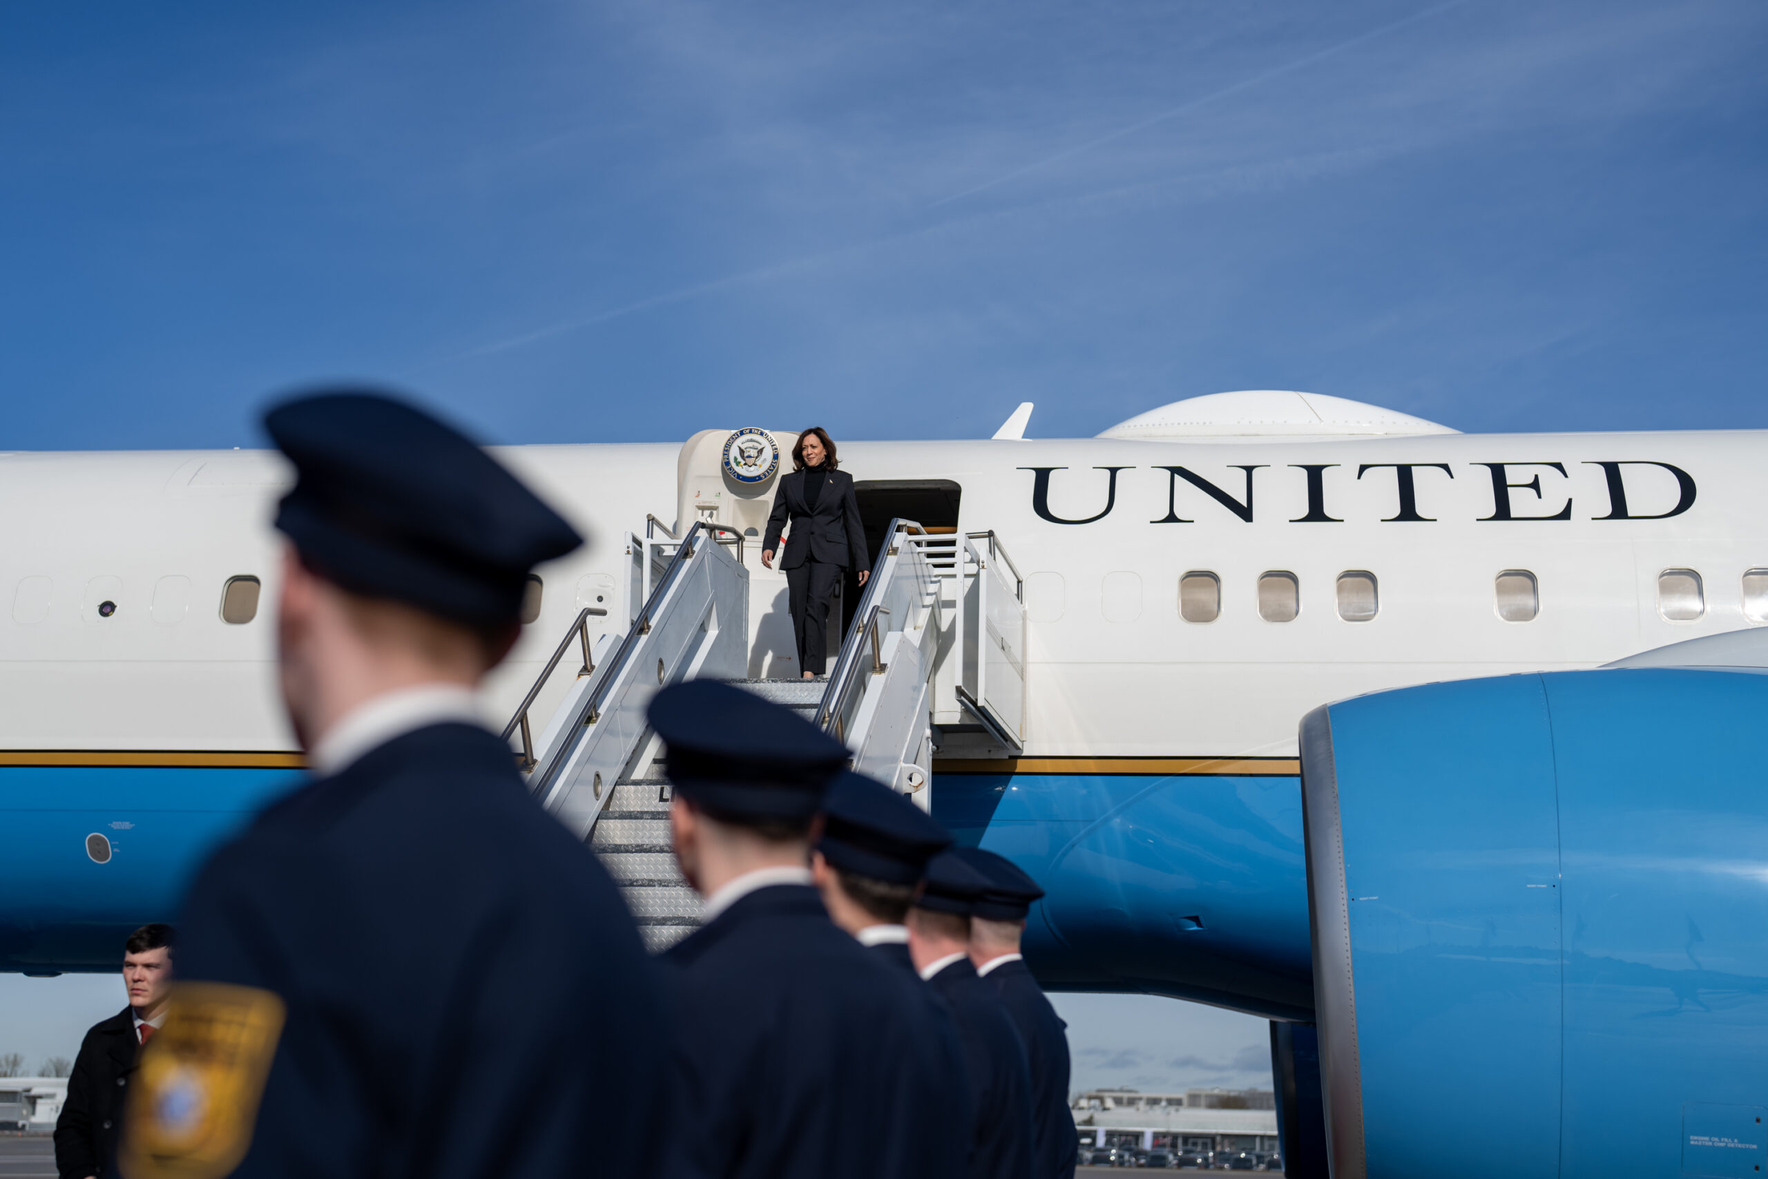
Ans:
[[[318,392],[263,426],[295,465],[276,527],[347,590],[467,626],[516,622],[529,571],[583,543],[477,444],[405,401]]]

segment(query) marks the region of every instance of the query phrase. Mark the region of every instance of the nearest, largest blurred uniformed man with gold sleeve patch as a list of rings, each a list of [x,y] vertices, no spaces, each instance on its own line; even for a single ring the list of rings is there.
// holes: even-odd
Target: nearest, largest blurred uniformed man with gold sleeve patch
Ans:
[[[647,1172],[663,997],[476,696],[529,571],[580,537],[405,403],[311,396],[265,426],[295,470],[276,626],[313,778],[191,889],[124,1174]]]

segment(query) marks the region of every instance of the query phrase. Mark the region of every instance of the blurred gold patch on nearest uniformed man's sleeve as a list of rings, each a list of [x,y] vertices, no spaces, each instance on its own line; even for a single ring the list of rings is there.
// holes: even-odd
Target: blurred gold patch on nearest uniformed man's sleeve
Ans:
[[[129,1179],[219,1179],[244,1161],[283,1013],[267,990],[173,985],[166,1025],[141,1050],[124,1119]]]

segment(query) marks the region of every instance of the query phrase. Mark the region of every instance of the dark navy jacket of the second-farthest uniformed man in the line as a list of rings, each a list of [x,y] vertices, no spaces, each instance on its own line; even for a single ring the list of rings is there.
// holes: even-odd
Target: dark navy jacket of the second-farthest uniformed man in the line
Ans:
[[[994,988],[960,958],[928,979],[951,1006],[971,1076],[972,1179],[1025,1179],[1031,1160],[1031,1073],[1025,1045]]]

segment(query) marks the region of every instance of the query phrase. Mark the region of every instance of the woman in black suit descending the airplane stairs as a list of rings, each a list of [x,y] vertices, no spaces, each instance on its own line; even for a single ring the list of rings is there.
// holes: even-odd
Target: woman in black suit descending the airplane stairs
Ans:
[[[767,516],[767,536],[762,539],[762,564],[773,569],[780,534],[790,518],[792,534],[785,541],[780,567],[785,569],[787,605],[797,635],[797,666],[804,679],[827,670],[824,635],[834,587],[849,569],[859,571],[861,585],[872,576],[854,477],[836,467],[829,431],[812,426],[801,433],[792,447],[792,474],[780,477],[774,509]]]

